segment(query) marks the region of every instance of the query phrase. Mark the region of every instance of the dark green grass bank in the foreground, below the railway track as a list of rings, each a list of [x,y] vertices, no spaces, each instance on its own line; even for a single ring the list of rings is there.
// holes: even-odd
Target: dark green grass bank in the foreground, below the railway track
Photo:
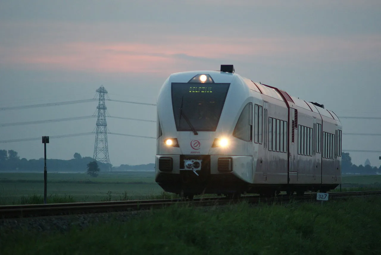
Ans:
[[[380,197],[171,206],[65,233],[0,233],[0,254],[381,254]]]

